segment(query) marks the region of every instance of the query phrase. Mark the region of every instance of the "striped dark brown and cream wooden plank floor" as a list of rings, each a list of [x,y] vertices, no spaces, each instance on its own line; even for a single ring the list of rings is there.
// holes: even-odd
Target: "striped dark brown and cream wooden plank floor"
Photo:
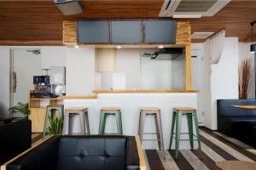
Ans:
[[[202,159],[197,150],[180,150],[177,160],[174,150],[144,150],[147,170],[219,170],[217,161],[256,161],[253,147],[206,127],[201,127],[200,133]],[[32,143],[41,138],[42,133],[33,133]]]

